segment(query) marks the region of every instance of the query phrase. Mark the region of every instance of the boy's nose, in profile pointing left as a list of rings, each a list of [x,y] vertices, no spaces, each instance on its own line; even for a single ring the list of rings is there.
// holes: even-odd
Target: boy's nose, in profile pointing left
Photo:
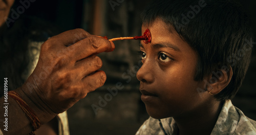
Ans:
[[[149,61],[144,61],[141,68],[136,74],[139,81],[145,83],[152,83],[154,81],[154,67]]]

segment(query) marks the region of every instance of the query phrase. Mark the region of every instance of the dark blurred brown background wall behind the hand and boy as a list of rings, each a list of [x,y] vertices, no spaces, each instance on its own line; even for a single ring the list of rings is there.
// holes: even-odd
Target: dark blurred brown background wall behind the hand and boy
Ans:
[[[256,23],[256,2],[241,1]],[[140,13],[147,1],[136,0],[56,0],[35,1],[23,15],[50,21],[60,31],[82,28],[91,34],[108,36],[141,35]],[[18,1],[16,4],[19,5]],[[256,31],[256,25],[253,25]],[[256,35],[256,34],[255,34]],[[256,39],[254,40],[256,42]],[[71,134],[135,134],[148,118],[140,100],[136,72],[140,66],[139,41],[115,41],[116,49],[99,56],[107,80],[104,86],[68,110]],[[254,44],[255,46],[255,44]],[[256,49],[243,86],[233,104],[256,120]],[[117,93],[115,90],[118,90]],[[113,94],[111,94],[111,92]],[[93,107],[92,107],[93,106]],[[93,109],[94,108],[94,109]]]

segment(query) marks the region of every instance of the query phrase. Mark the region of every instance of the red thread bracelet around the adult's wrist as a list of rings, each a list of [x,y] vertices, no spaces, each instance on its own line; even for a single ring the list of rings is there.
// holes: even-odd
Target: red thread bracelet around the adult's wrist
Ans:
[[[22,98],[20,98],[16,92],[10,91],[8,92],[8,95],[16,100],[18,105],[23,109],[23,111],[29,118],[29,121],[31,122],[34,129],[32,132],[30,132],[30,135],[34,135],[34,131],[41,126],[38,117],[35,115],[34,111],[29,107],[29,105]]]

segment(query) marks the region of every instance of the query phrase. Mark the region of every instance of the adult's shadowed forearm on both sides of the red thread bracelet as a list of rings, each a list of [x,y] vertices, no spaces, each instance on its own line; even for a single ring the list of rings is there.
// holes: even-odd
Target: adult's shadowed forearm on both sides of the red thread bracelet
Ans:
[[[39,118],[41,124],[44,124],[55,117],[53,114],[49,114],[47,111],[44,111],[44,107],[39,107],[35,104],[21,88],[14,90],[20,98],[22,98],[29,107],[34,111],[35,115]],[[0,119],[7,121],[1,126],[1,130],[4,134],[29,134],[33,131],[32,124],[28,119],[27,115],[24,113],[23,109],[18,105],[16,100],[8,96],[8,102],[5,102],[4,97],[0,98]],[[8,103],[8,104],[4,104]],[[7,124],[6,124],[7,123]],[[4,126],[6,125],[6,126]]]

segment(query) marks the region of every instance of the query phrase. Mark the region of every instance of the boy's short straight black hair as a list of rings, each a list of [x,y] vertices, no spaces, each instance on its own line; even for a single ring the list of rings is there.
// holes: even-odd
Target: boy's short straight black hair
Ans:
[[[144,26],[162,19],[197,52],[196,81],[223,66],[231,67],[230,83],[215,98],[224,101],[236,95],[248,69],[252,49],[250,19],[239,3],[231,0],[152,1],[141,18]]]

